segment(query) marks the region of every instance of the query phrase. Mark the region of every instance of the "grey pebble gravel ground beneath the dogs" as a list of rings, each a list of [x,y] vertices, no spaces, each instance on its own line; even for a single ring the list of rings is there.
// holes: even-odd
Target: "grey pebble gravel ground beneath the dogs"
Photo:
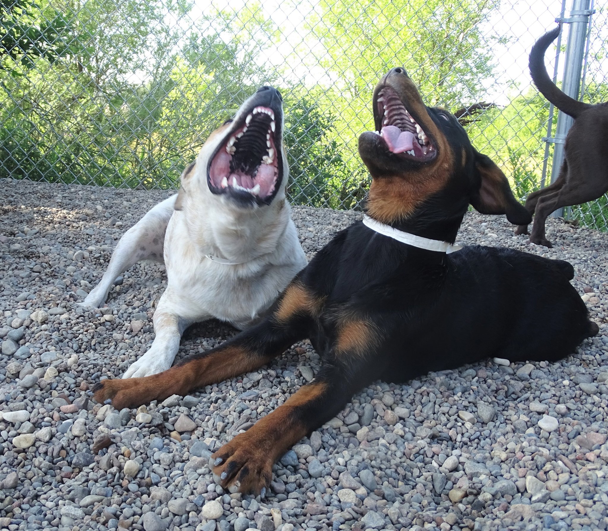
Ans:
[[[488,360],[376,382],[275,465],[260,500],[224,493],[207,459],[313,377],[310,344],[192,396],[137,411],[95,404],[89,386],[150,346],[163,268],[126,272],[98,312],[74,303],[165,194],[10,179],[0,194],[0,528],[606,529],[607,235],[550,219],[548,250],[503,217],[469,213],[460,243],[572,262],[601,335],[561,363]],[[294,208],[309,258],[360,216]],[[201,324],[178,357],[233,334]]]

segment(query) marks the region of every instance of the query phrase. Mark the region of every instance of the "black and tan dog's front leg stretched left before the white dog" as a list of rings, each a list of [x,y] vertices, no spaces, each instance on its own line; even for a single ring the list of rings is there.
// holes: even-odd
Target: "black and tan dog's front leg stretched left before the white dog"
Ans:
[[[260,324],[168,371],[144,378],[103,380],[93,389],[95,400],[104,403],[110,400],[116,409],[134,408],[253,371],[296,341],[308,337],[310,324],[322,305],[322,297],[295,279],[271,315]]]

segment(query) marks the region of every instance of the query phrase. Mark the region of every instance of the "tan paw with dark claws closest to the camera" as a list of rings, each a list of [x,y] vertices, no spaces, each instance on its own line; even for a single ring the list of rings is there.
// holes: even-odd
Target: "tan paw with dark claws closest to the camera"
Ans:
[[[266,496],[274,460],[268,449],[256,444],[247,432],[219,448],[210,463],[215,482],[229,492]]]

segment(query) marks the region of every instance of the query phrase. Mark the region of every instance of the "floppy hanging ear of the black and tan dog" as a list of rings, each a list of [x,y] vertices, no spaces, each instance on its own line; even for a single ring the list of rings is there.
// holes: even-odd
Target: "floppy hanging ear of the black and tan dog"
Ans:
[[[482,214],[506,214],[514,225],[527,225],[530,213],[513,196],[509,181],[492,160],[475,151],[475,190],[471,205]]]

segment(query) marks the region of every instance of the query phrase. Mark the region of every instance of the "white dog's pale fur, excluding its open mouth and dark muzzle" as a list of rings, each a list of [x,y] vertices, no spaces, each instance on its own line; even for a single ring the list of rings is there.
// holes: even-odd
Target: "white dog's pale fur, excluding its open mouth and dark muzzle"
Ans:
[[[246,103],[240,113],[247,108]],[[102,280],[83,302],[88,307],[103,304],[116,277],[142,259],[154,259],[153,253],[164,261],[168,283],[154,312],[156,337],[123,378],[170,368],[181,335],[192,323],[218,318],[238,329],[253,324],[306,266],[285,199],[288,167],[284,152],[283,180],[270,205],[238,207],[226,195],[209,190],[209,157],[228,128],[223,126],[210,135],[192,173],[182,179],[182,210],[174,210],[177,196],[170,197],[126,231]],[[220,264],[206,255],[244,263]]]

